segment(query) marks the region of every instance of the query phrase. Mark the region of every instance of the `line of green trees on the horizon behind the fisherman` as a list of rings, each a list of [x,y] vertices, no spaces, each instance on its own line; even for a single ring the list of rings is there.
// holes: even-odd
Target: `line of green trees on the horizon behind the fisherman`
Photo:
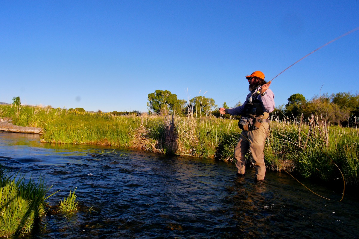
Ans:
[[[242,104],[239,101],[233,107],[240,105]],[[187,102],[178,99],[176,94],[168,90],[156,90],[148,94],[147,106],[149,114],[200,114],[223,117],[212,98],[196,96]],[[226,102],[223,103],[223,107],[230,108]],[[355,127],[355,124],[359,123],[359,94],[340,92],[314,96],[311,100],[306,100],[302,94],[293,94],[288,98],[287,104],[276,107],[272,114],[275,114],[279,120],[283,118],[300,120],[301,117],[306,120],[314,114],[321,116],[330,124]]]

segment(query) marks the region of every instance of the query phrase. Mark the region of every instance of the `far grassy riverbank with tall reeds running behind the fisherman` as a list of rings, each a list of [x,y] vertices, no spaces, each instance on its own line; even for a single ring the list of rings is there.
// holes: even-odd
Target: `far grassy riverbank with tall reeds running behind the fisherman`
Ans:
[[[19,126],[44,129],[41,142],[100,144],[167,154],[233,161],[241,130],[237,120],[208,117],[113,116],[111,114],[0,106],[0,117]],[[265,160],[275,171],[330,182],[341,178],[358,184],[359,136],[356,129],[272,120]],[[250,157],[250,154],[247,154]]]

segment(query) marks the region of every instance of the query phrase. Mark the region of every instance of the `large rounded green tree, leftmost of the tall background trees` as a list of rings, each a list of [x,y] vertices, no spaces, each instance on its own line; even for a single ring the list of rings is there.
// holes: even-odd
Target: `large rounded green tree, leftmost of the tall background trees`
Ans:
[[[176,94],[172,94],[168,90],[156,90],[148,94],[147,106],[153,110],[155,114],[167,115],[171,113],[181,113],[186,105],[186,100],[179,100]]]

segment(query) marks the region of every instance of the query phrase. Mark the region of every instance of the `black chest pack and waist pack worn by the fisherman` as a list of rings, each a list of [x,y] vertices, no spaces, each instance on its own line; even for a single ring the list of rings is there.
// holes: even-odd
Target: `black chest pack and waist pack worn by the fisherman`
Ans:
[[[258,94],[247,98],[247,104],[243,110],[244,112],[238,122],[238,126],[245,131],[258,129],[263,121],[266,121],[269,117],[269,113],[263,110],[263,103],[259,100]]]

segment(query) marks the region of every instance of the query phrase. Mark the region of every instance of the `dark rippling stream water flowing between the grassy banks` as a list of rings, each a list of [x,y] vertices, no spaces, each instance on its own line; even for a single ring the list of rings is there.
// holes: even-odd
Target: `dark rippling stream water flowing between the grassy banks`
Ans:
[[[39,143],[0,131],[0,164],[45,178],[57,205],[76,189],[80,210],[48,215],[24,238],[358,238],[358,199],[254,169],[237,178],[232,163],[131,149]],[[89,213],[89,207],[97,210]]]

